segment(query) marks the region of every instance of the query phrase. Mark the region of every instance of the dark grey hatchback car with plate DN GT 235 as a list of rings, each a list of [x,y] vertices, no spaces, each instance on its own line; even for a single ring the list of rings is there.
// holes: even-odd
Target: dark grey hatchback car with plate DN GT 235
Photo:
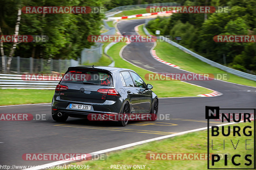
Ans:
[[[152,88],[130,69],[83,65],[69,67],[56,86],[52,118],[65,122],[68,116],[91,120],[92,115],[110,115],[123,117],[110,120],[119,126],[126,126],[131,120],[127,115],[138,117],[146,114],[151,116],[147,120],[155,121],[158,99],[150,90]]]

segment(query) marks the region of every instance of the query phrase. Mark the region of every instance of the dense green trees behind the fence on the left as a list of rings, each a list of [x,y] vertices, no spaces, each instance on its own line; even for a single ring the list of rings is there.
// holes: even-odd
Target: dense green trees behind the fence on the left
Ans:
[[[106,0],[51,1],[51,0],[0,0],[0,25],[4,35],[12,35],[18,8],[23,6],[90,6],[103,7]],[[21,14],[19,35],[47,35],[47,42],[19,43],[15,56],[33,58],[77,59],[83,48],[90,48],[90,34],[100,34],[104,13],[88,14]],[[9,54],[12,43],[4,43]]]

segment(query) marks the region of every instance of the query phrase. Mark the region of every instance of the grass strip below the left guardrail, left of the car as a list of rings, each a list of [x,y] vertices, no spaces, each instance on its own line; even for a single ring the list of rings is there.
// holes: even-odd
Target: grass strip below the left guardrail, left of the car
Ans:
[[[0,89],[0,106],[51,103],[54,90]]]

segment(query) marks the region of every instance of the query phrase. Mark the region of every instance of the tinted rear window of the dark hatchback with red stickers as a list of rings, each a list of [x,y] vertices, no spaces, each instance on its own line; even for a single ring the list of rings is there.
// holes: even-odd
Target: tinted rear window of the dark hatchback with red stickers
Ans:
[[[111,75],[101,70],[68,70],[60,82],[113,86]]]

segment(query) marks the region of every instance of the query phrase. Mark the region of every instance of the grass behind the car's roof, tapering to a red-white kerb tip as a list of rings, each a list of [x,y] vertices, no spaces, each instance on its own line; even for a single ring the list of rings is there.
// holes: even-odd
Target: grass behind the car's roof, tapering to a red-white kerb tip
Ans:
[[[124,61],[119,56],[119,51],[125,45],[123,42],[116,43],[108,50],[108,55],[110,55],[115,60],[115,67],[128,68],[136,71],[144,80],[145,74],[152,73],[150,71],[138,68],[126,61]],[[147,81],[146,83],[153,85],[155,88],[152,90],[157,94],[158,97],[184,97],[184,96],[196,96],[198,94],[210,93],[212,91],[197,87],[194,85],[189,85],[180,81],[162,81],[154,80]]]

